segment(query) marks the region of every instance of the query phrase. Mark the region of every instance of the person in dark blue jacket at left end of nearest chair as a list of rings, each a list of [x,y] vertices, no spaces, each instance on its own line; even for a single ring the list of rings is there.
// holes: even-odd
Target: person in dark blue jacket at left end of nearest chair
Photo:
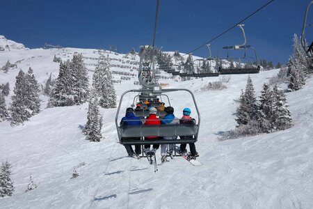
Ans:
[[[125,117],[123,117],[122,120],[120,121],[120,125],[142,125],[142,124],[143,123],[141,123],[141,119],[135,116],[134,109],[132,109],[131,107],[128,107],[126,109]],[[141,140],[141,137],[129,137],[127,139]],[[131,147],[131,145],[126,144],[124,146],[127,150],[128,155],[134,156],[134,150]],[[135,152],[136,152],[136,155],[141,154],[141,146],[140,145],[135,145]]]

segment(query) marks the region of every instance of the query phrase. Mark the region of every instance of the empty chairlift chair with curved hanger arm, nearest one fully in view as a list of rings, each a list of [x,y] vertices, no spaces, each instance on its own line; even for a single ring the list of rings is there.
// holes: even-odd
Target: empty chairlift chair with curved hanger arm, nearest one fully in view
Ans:
[[[217,57],[217,62],[218,62],[218,73],[220,75],[227,75],[227,74],[249,74],[249,73],[259,73],[260,66],[257,60],[257,51],[254,47],[250,45],[246,45],[246,33],[243,29],[243,24],[238,24],[239,28],[242,31],[243,34],[243,44],[241,45],[234,45],[234,46],[226,46],[223,47],[222,49],[227,52],[227,58],[226,59],[221,59],[220,58],[220,50],[218,50],[218,57]],[[243,51],[243,56],[240,58],[236,58],[233,56],[230,56],[230,51]],[[249,52],[254,52],[254,57],[248,56],[247,53]],[[241,60],[246,60],[246,59],[253,59],[253,62],[246,66],[248,63],[243,63],[241,64]],[[235,60],[239,60],[239,63],[237,62],[237,66],[230,66],[229,68],[224,68],[223,67],[223,60],[233,62]],[[245,67],[246,66],[246,67]]]

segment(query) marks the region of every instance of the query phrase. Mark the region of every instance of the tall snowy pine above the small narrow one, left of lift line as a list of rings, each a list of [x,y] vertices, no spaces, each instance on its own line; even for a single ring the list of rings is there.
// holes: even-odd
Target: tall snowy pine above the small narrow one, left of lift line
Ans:
[[[97,67],[93,75],[93,88],[99,98],[101,107],[114,108],[116,107],[116,94],[109,59],[102,52],[99,52],[99,55]]]

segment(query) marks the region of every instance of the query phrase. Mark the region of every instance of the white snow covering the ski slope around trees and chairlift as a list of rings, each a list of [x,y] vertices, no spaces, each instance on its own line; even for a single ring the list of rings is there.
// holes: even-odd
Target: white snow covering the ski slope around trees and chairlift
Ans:
[[[29,49],[0,52],[0,66],[8,59],[17,63],[8,73],[0,72],[0,84],[10,82],[13,94],[19,68],[33,68],[39,84],[45,84],[52,72],[58,76],[54,54],[63,60],[74,52],[97,58],[95,49]],[[123,54],[110,57],[127,60]],[[130,59],[129,59],[130,60]],[[138,56],[136,56],[138,61]],[[136,66],[122,61],[114,64]],[[86,63],[96,63],[86,59]],[[113,61],[111,62],[113,63]],[[94,66],[87,65],[89,76]],[[111,70],[129,72],[129,68]],[[134,70],[133,72],[137,72]],[[262,84],[278,70],[250,75],[259,95]],[[167,75],[165,72],[163,75]],[[115,79],[121,75],[113,74]],[[200,91],[219,78],[175,82],[163,79],[169,88],[188,88],[195,93],[200,109],[201,127],[195,144],[203,167],[193,167],[182,157],[166,162],[154,173],[145,158],[125,157],[115,130],[117,109],[100,109],[105,137],[89,142],[81,133],[86,123],[88,104],[45,109],[47,97],[41,96],[40,114],[24,125],[10,127],[0,123],[0,163],[13,165],[13,196],[0,199],[0,208],[313,208],[313,79],[300,91],[287,93],[294,121],[289,130],[227,141],[219,141],[220,132],[235,127],[234,112],[240,90],[248,75],[232,75],[223,91]],[[136,76],[115,84],[118,100],[124,91],[138,88]],[[170,93],[175,115],[191,107],[190,95]],[[10,97],[6,97],[7,103]],[[133,95],[125,96],[122,109],[129,107]],[[7,106],[8,107],[8,106]],[[120,114],[119,119],[122,118]],[[188,146],[187,146],[188,147]],[[160,153],[157,151],[158,161]],[[76,169],[79,176],[72,177]],[[24,192],[29,177],[38,188]]]

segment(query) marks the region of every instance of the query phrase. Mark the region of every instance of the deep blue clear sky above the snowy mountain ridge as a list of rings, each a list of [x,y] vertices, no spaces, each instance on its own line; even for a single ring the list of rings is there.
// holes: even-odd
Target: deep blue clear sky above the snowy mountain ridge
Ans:
[[[267,2],[161,0],[157,47],[190,52]],[[247,44],[257,49],[259,59],[288,61],[293,34],[300,35],[309,2],[275,0],[243,22]],[[129,52],[133,47],[138,51],[139,45],[152,44],[156,6],[157,0],[6,0],[0,7],[0,34],[30,48],[47,42],[81,48],[116,45],[118,52]],[[310,14],[310,23],[312,17]],[[312,31],[307,30],[307,38],[313,37]],[[212,54],[241,42],[241,31],[235,28],[211,43]],[[207,56],[207,49],[193,54]]]

